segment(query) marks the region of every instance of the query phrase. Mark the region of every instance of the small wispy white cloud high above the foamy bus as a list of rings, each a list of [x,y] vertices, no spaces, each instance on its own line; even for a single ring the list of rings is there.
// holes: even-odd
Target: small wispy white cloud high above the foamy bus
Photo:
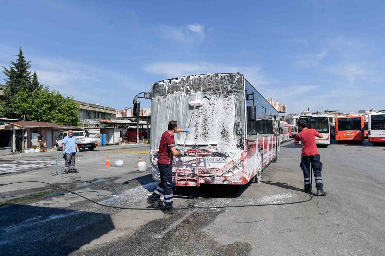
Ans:
[[[156,32],[165,40],[177,41],[179,43],[201,43],[204,40],[204,26],[200,24],[173,27],[160,24]]]

